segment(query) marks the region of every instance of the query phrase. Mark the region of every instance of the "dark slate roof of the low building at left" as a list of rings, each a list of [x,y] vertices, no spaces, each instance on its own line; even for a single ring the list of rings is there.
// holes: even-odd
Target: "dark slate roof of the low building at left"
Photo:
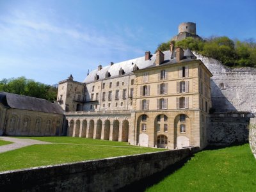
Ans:
[[[4,102],[6,100],[6,102]],[[24,109],[29,111],[40,111],[44,113],[63,114],[63,109],[58,104],[49,102],[45,99],[17,95],[14,93],[0,92],[0,102],[4,106],[9,106],[13,109]],[[7,105],[6,105],[7,104]]]

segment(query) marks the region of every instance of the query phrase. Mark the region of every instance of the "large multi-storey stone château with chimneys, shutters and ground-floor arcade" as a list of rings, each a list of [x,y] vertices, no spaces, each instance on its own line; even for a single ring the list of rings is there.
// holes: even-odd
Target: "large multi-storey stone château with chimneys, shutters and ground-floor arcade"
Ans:
[[[212,74],[187,49],[145,52],[59,83],[68,135],[145,147],[207,145]]]

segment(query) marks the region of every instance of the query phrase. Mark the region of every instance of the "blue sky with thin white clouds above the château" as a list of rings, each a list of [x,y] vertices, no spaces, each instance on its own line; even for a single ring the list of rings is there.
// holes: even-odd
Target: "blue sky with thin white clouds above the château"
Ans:
[[[56,84],[156,51],[195,22],[204,38],[256,39],[255,0],[0,0],[0,80]]]

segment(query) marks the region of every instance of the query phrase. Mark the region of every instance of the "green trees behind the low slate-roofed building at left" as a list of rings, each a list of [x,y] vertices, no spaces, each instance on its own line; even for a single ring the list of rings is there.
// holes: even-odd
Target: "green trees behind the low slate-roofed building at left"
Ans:
[[[26,79],[26,77],[18,77],[16,79],[2,79],[0,81],[0,91],[54,101],[57,98],[58,88],[56,85],[51,86]]]

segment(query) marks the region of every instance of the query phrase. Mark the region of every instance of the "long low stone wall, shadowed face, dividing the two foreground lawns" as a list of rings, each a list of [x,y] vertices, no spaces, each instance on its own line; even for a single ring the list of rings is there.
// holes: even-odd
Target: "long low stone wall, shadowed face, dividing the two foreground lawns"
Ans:
[[[0,173],[1,191],[115,191],[198,150],[183,148]]]

